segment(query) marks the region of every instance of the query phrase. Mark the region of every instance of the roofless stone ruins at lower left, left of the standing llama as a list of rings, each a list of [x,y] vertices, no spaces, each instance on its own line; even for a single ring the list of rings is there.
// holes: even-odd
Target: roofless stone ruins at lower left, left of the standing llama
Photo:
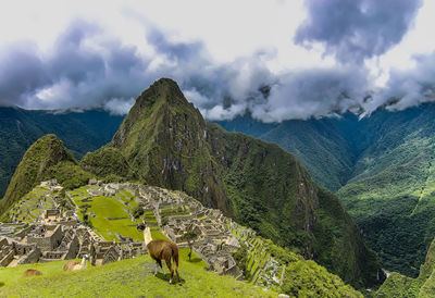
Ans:
[[[79,224],[72,211],[62,214],[60,210],[46,210],[42,223],[32,225],[0,223],[0,266],[70,260],[84,254],[90,257],[94,265],[102,265],[146,252],[142,243],[128,237],[121,243],[102,240]]]

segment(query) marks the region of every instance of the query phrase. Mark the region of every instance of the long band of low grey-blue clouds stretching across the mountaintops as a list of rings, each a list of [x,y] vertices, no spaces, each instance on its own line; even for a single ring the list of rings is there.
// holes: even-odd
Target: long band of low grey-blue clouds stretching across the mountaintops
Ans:
[[[360,29],[370,39],[365,29],[351,32]],[[340,32],[332,35],[344,38]],[[208,120],[246,113],[264,122],[347,111],[366,115],[380,107],[400,110],[434,99],[435,53],[415,57],[413,70],[393,71],[386,87],[374,92],[369,70],[357,63],[273,73],[268,67],[276,55],[273,49],[217,63],[200,40],[179,41],[150,24],[144,38],[152,53],[139,53],[136,46],[78,20],[47,52],[30,42],[10,46],[0,51],[0,103],[30,109],[101,107],[125,114],[134,98],[160,77],[174,78]],[[348,51],[346,42],[343,49]],[[348,54],[362,59],[372,52],[362,50]]]

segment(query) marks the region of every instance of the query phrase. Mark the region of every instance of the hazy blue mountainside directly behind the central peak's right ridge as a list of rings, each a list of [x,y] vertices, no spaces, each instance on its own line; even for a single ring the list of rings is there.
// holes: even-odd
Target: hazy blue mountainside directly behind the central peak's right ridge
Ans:
[[[358,123],[348,115],[346,126]],[[291,120],[279,124],[265,124],[250,116],[216,122],[228,132],[240,132],[279,145],[295,154],[321,186],[336,191],[347,182],[358,152],[340,132],[334,119]]]

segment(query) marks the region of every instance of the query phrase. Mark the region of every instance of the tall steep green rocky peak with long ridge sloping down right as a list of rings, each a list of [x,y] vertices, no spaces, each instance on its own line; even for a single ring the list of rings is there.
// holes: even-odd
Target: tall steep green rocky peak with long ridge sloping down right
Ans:
[[[104,148],[117,149],[139,181],[184,190],[348,283],[382,280],[376,256],[337,197],[319,187],[294,156],[207,123],[171,79],[137,98]],[[94,167],[117,174],[104,162]]]

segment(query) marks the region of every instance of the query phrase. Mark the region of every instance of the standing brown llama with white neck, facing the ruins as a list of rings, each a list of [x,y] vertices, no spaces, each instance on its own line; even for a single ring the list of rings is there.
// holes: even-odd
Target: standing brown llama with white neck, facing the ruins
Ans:
[[[178,278],[178,284],[182,285],[182,282],[179,280],[179,274],[178,274],[178,247],[174,243],[170,243],[166,240],[153,240],[151,237],[151,229],[149,226],[147,226],[147,222],[144,220],[144,224],[138,224],[137,225],[138,231],[144,231],[144,240],[145,245],[147,246],[148,253],[151,256],[151,258],[156,261],[156,270],[154,270],[154,276],[157,275],[157,265],[159,264],[160,268],[163,271],[163,274],[165,274],[164,269],[162,266],[162,259],[164,259],[167,269],[171,272],[171,277],[170,277],[170,284],[173,283],[173,277],[174,277],[174,270],[172,269],[171,264],[171,259],[174,261],[174,269],[175,273]]]

